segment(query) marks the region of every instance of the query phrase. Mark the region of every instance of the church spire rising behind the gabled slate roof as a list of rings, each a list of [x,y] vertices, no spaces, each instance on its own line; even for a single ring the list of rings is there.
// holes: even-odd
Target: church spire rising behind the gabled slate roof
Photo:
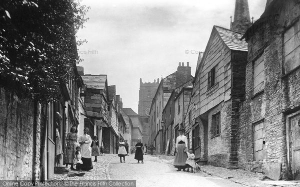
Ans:
[[[234,19],[230,23],[230,30],[244,33],[250,23],[248,0],[235,0]]]

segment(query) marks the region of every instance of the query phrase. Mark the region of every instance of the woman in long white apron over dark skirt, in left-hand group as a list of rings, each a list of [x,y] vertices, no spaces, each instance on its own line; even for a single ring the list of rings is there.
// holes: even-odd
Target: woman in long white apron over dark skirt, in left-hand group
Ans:
[[[91,170],[92,169],[92,163],[91,163],[91,151],[90,151],[90,143],[91,143],[91,138],[87,134],[88,133],[88,128],[84,128],[83,130],[83,135],[79,137],[79,144],[80,144],[80,149],[81,149],[81,161],[82,165],[80,167],[81,170]]]

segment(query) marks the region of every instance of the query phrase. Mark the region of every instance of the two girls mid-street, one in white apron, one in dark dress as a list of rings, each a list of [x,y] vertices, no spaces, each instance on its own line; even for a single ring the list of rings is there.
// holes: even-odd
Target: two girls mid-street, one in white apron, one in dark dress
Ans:
[[[123,139],[119,139],[119,143],[118,143],[118,152],[117,152],[117,156],[120,158],[120,163],[125,163],[125,156],[128,156],[128,143],[127,140],[125,142],[123,142]],[[145,145],[146,146],[146,145]],[[141,140],[138,140],[138,143],[135,145],[135,156],[134,159],[137,160],[137,163],[139,163],[139,161],[141,161],[141,163],[143,164],[143,151],[142,151],[143,145],[141,143]],[[133,150],[134,148],[131,147],[131,149]],[[133,151],[131,151],[131,154]],[[122,162],[122,158],[123,158],[123,162]]]

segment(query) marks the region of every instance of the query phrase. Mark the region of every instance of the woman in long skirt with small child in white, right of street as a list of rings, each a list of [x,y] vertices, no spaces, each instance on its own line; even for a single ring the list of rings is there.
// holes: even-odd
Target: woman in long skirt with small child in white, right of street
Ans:
[[[183,172],[193,173],[195,167],[195,155],[193,154],[193,149],[187,150],[187,138],[183,135],[184,129],[179,129],[179,136],[176,138],[176,155],[174,159],[174,167],[177,171],[183,170]],[[185,169],[187,169],[185,171]]]

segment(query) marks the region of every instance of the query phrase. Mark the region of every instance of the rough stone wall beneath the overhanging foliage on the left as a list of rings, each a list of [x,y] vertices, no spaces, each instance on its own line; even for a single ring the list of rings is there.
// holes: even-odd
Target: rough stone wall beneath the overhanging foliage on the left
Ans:
[[[36,136],[37,144],[33,143],[33,102],[19,99],[1,87],[0,111],[0,179],[38,179],[40,140]],[[37,158],[32,165],[33,146]],[[32,167],[36,170],[33,174]]]

